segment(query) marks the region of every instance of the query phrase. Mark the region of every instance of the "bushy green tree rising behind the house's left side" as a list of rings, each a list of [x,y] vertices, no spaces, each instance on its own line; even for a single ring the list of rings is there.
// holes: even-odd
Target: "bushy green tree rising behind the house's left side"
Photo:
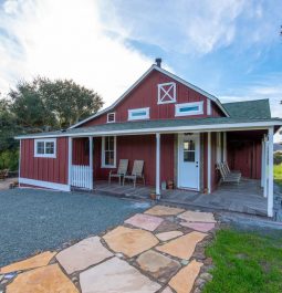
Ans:
[[[96,92],[72,80],[36,77],[30,83],[19,82],[9,96],[11,112],[28,132],[69,127],[96,113],[104,104]]]

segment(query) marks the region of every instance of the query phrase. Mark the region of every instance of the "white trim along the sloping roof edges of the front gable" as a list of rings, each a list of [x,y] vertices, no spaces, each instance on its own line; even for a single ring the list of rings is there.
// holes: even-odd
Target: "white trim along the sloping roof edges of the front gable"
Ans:
[[[220,103],[220,101],[216,97],[216,96],[213,96],[213,95],[211,95],[211,94],[209,94],[209,93],[207,93],[207,92],[205,92],[203,90],[201,90],[200,87],[198,87],[198,86],[196,86],[196,85],[194,85],[194,84],[191,84],[191,83],[188,83],[188,82],[186,82],[185,80],[182,80],[182,79],[180,79],[180,77],[178,77],[177,75],[175,75],[174,73],[171,73],[171,72],[168,72],[168,71],[166,71],[166,70],[164,70],[164,69],[161,69],[161,67],[159,67],[159,66],[157,66],[157,65],[155,65],[155,64],[153,64],[119,98],[117,98],[116,100],[116,102],[114,102],[111,106],[108,106],[108,107],[106,107],[106,108],[104,108],[104,109],[102,109],[102,111],[100,111],[100,112],[97,112],[96,114],[94,114],[94,115],[91,115],[90,117],[87,117],[87,118],[85,118],[85,119],[83,119],[83,121],[81,121],[81,122],[79,122],[79,123],[76,123],[76,124],[74,124],[74,125],[72,125],[69,129],[72,129],[72,128],[75,128],[75,127],[77,127],[77,126],[80,126],[80,125],[82,125],[82,124],[84,124],[84,123],[86,123],[86,122],[88,122],[88,121],[91,121],[91,119],[94,119],[94,118],[96,118],[96,117],[98,117],[98,116],[101,116],[102,114],[105,114],[105,113],[107,113],[108,111],[111,111],[111,109],[113,109],[117,104],[119,104],[137,85],[139,85],[140,83],[142,83],[142,81],[145,79],[145,77],[147,77],[154,70],[156,70],[156,71],[158,71],[158,72],[160,72],[160,73],[163,73],[163,74],[165,74],[165,75],[167,75],[167,76],[169,76],[170,79],[174,79],[174,80],[176,80],[177,82],[179,82],[179,83],[181,83],[181,84],[184,84],[184,85],[186,85],[186,86],[188,86],[188,87],[190,87],[190,88],[192,88],[194,91],[196,91],[196,92],[198,92],[199,94],[201,94],[201,95],[203,95],[203,96],[206,96],[206,97],[208,97],[208,98],[210,98],[211,101],[213,101],[217,105],[218,105],[218,107],[227,115],[227,117],[229,117],[229,113],[228,113],[228,111],[223,107],[223,105]]]

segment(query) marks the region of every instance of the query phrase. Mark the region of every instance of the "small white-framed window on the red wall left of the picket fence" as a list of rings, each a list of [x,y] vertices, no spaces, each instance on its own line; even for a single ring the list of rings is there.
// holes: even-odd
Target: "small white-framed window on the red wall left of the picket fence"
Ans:
[[[34,139],[34,157],[55,158],[56,139]]]

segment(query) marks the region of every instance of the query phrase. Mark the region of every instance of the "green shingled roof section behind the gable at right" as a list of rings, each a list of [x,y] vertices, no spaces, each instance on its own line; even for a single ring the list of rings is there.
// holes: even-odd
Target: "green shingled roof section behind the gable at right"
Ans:
[[[224,103],[224,108],[232,118],[268,119],[271,118],[269,100],[254,100]]]

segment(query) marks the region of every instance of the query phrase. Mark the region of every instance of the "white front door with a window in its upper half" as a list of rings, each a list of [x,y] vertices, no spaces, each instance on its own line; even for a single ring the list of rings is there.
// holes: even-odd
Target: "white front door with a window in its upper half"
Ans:
[[[199,134],[178,136],[178,187],[199,190]]]

